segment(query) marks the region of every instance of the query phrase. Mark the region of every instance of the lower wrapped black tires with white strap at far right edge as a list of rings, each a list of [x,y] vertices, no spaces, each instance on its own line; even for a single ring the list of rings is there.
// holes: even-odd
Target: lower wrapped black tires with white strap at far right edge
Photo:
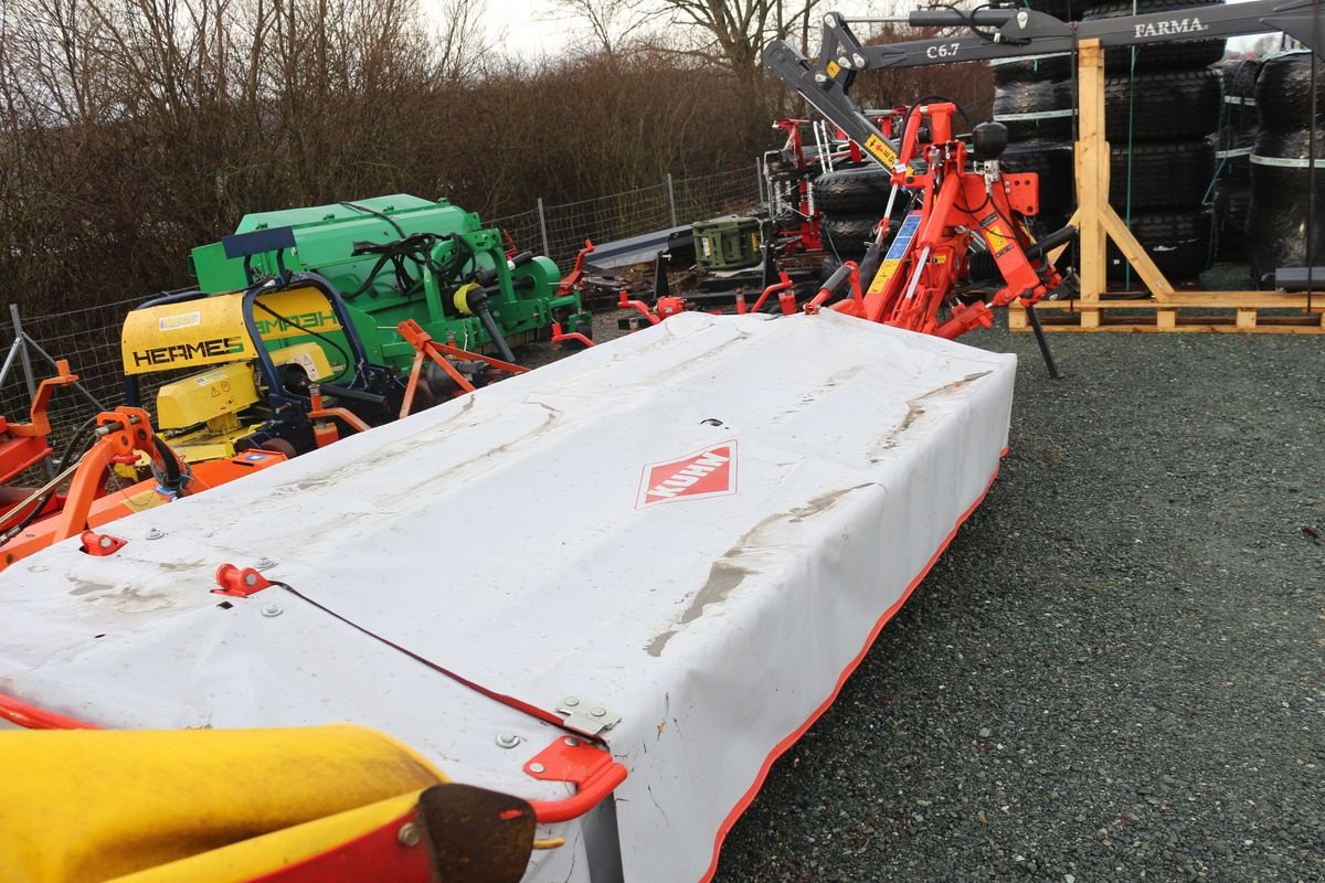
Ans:
[[[1265,69],[1269,70],[1269,64]],[[1247,250],[1252,278],[1263,287],[1273,287],[1279,267],[1306,266],[1308,213],[1312,262],[1325,263],[1325,132],[1316,135],[1314,193],[1309,185],[1310,146],[1312,135],[1306,131],[1263,131],[1256,139]]]

